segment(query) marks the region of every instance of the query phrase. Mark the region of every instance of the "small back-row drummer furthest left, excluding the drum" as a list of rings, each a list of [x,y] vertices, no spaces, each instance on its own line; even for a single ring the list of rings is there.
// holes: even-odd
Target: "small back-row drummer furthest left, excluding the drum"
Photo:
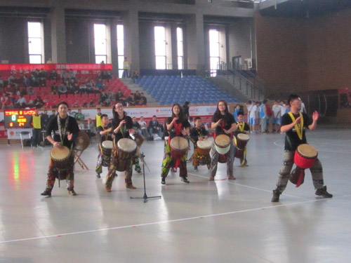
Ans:
[[[96,177],[98,178],[100,178],[100,173],[102,173],[102,142],[105,142],[105,140],[112,141],[112,137],[111,137],[112,125],[110,123],[109,117],[107,116],[107,114],[101,114],[99,118],[100,118],[101,126],[98,126],[97,132],[100,134],[100,143],[99,143],[98,161],[96,163],[96,168],[95,168]]]

